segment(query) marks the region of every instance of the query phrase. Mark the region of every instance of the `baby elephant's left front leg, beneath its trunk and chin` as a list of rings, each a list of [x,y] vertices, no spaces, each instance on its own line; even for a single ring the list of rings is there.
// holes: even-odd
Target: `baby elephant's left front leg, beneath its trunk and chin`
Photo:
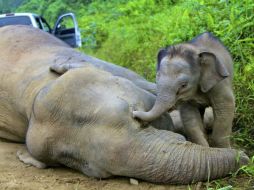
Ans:
[[[184,103],[180,106],[180,114],[187,138],[193,143],[209,146],[199,109],[189,103]]]

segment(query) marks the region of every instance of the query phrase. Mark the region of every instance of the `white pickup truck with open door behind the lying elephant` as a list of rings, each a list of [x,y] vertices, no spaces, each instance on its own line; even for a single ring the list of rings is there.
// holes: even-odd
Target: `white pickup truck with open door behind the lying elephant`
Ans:
[[[0,15],[0,27],[6,25],[30,25],[49,32],[65,41],[71,47],[81,47],[81,35],[78,23],[73,13],[61,15],[53,29],[47,21],[34,13],[8,13]]]

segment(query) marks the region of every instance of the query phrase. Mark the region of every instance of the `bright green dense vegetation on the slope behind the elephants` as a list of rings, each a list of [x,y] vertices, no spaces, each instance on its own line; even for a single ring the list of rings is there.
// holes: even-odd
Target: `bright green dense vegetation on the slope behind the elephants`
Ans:
[[[253,0],[25,0],[16,11],[42,14],[51,24],[58,15],[74,12],[83,36],[81,51],[128,67],[151,81],[160,47],[213,32],[234,58],[233,140],[253,155]],[[249,172],[254,175],[253,166]]]

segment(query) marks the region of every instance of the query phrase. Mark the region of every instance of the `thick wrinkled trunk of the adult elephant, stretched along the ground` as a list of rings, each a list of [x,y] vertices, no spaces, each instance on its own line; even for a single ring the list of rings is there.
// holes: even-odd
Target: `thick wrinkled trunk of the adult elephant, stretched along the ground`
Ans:
[[[154,183],[190,184],[212,180],[248,162],[242,152],[203,147],[185,141],[181,135],[151,127],[138,132],[128,145],[128,156],[121,156],[123,166],[114,175]]]

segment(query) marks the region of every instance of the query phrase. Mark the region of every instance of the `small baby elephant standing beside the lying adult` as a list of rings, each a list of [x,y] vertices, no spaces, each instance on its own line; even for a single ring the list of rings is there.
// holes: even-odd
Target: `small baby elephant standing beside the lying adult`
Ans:
[[[156,102],[150,111],[134,111],[133,116],[152,121],[178,105],[189,140],[204,146],[230,147],[235,110],[232,79],[230,53],[211,33],[203,33],[159,51]],[[202,123],[208,106],[214,115],[209,143]]]

